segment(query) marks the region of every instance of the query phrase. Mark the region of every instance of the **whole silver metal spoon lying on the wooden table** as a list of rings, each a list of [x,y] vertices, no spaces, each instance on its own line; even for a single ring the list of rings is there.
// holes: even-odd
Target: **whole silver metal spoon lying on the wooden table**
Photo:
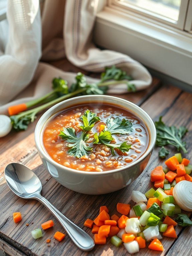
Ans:
[[[40,195],[42,189],[41,181],[32,170],[19,163],[10,163],[5,168],[5,179],[10,189],[18,197],[37,199],[46,206],[81,250],[90,251],[93,249],[94,242],[92,238]]]

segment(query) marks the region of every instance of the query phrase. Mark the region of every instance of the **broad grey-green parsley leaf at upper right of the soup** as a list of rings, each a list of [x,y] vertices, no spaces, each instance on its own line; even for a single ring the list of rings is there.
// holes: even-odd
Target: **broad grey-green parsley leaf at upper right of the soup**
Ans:
[[[131,128],[132,125],[129,120],[125,120],[124,118],[122,120],[119,117],[107,119],[107,130],[110,131],[111,134],[128,134],[133,131]]]

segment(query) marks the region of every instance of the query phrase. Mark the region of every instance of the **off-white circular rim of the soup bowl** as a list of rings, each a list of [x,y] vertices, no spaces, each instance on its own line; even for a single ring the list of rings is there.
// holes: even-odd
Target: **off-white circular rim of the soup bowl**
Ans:
[[[95,97],[99,97],[99,101],[101,101],[101,98],[105,97],[108,98],[108,99],[114,99],[114,101],[116,99],[122,101],[122,102],[125,102],[126,104],[130,104],[132,107],[138,109],[139,111],[141,111],[145,117],[148,119],[148,121],[150,122],[151,124],[151,127],[149,127],[145,120],[139,116],[139,118],[141,118],[143,120],[143,122],[145,123],[145,125],[147,126],[148,130],[150,131],[150,133],[153,133],[153,138],[150,134],[150,141],[149,141],[149,145],[148,145],[148,148],[147,150],[143,153],[143,155],[138,158],[135,162],[133,163],[129,163],[129,165],[125,165],[123,167],[120,167],[118,169],[112,169],[112,170],[107,170],[107,171],[103,171],[103,172],[97,172],[97,171],[81,171],[81,170],[76,170],[76,169],[72,169],[72,168],[69,168],[69,167],[66,167],[62,164],[59,164],[57,163],[56,161],[54,161],[50,156],[49,154],[46,152],[46,150],[43,148],[43,146],[41,145],[41,136],[42,136],[42,130],[43,130],[43,127],[45,125],[45,123],[48,121],[49,118],[51,118],[52,116],[54,116],[55,114],[59,113],[62,109],[58,110],[58,111],[55,111],[55,113],[53,114],[49,114],[51,113],[53,110],[56,110],[58,107],[60,107],[61,105],[63,104],[68,104],[69,103],[69,106],[67,106],[66,108],[63,108],[64,109],[67,109],[70,107],[70,103],[73,103],[73,101],[75,100],[78,100],[78,99],[88,99],[90,100],[90,98],[95,98]],[[97,100],[93,100],[93,101],[97,101]],[[104,100],[105,101],[105,100]],[[75,102],[74,102],[75,103]],[[81,102],[83,104],[83,102]],[[109,102],[106,102],[110,105]],[[115,103],[115,102],[114,102]],[[80,103],[79,103],[80,104]],[[117,104],[116,105],[118,107],[122,107],[121,105]],[[126,108],[126,107],[124,107]],[[129,109],[128,109],[129,110]],[[129,111],[132,111],[134,112],[133,110],[129,110]],[[138,114],[134,112],[134,114],[137,116]],[[48,116],[47,116],[48,115]],[[45,118],[46,117],[46,118]],[[43,124],[41,124],[42,120],[43,119],[46,119],[46,121],[43,122]],[[63,169],[64,171],[68,171],[68,172],[73,172],[73,173],[77,173],[77,174],[84,174],[84,175],[106,175],[106,174],[109,174],[109,173],[114,173],[114,172],[120,172],[122,170],[125,170],[129,167],[132,167],[134,165],[137,165],[138,163],[140,163],[142,160],[144,160],[153,150],[154,146],[155,146],[155,142],[156,142],[156,128],[155,128],[155,124],[153,122],[153,120],[151,119],[151,117],[147,114],[147,112],[145,112],[141,107],[137,106],[135,103],[133,102],[130,102],[128,100],[125,100],[125,99],[122,99],[122,98],[119,98],[119,97],[115,97],[115,96],[110,96],[110,95],[83,95],[83,96],[78,96],[78,97],[74,97],[74,98],[70,98],[70,99],[67,99],[67,100],[64,100],[64,101],[61,101],[55,105],[53,105],[50,109],[48,109],[41,117],[40,119],[38,120],[37,124],[36,124],[36,127],[35,127],[35,131],[34,131],[34,139],[35,139],[35,145],[36,145],[36,148],[38,150],[38,152],[40,152],[43,157],[46,159],[46,161],[52,163],[53,165],[56,165],[57,167]]]

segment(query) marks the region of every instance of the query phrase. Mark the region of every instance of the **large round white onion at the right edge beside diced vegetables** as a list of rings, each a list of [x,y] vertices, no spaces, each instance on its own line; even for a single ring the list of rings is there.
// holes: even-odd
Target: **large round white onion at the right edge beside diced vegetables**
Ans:
[[[173,197],[177,205],[188,212],[192,212],[192,182],[182,180],[173,188]]]

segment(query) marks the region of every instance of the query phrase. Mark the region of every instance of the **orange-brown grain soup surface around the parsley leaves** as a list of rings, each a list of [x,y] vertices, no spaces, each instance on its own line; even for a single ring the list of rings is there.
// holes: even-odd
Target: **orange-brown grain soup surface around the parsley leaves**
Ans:
[[[91,131],[89,131],[89,139],[86,141],[87,145],[90,146],[92,150],[88,151],[88,155],[76,158],[75,156],[67,154],[69,149],[67,147],[68,143],[66,140],[62,140],[58,134],[63,130],[63,127],[73,127],[78,137],[82,133],[82,130],[79,128],[79,125],[82,125],[80,117],[87,109],[96,113],[97,116],[100,117],[100,121],[96,122]],[[124,118],[133,124],[133,131],[129,134],[112,135],[115,140],[111,141],[111,143],[118,144],[126,141],[127,144],[131,144],[130,150],[126,153],[115,149],[115,156],[111,154],[109,147],[103,144],[92,144],[94,133],[99,133],[100,125],[106,125],[107,119],[112,117]],[[149,132],[145,123],[127,109],[105,103],[100,105],[91,103],[68,108],[50,119],[43,132],[43,144],[50,157],[61,165],[76,170],[101,172],[121,168],[140,158],[147,150]]]

